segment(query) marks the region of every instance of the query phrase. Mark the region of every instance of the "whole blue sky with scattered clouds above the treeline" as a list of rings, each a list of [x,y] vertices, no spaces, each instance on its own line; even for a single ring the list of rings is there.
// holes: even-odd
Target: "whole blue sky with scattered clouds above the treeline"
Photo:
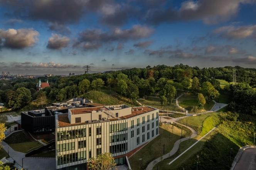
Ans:
[[[256,0],[0,0],[0,71],[256,68]]]

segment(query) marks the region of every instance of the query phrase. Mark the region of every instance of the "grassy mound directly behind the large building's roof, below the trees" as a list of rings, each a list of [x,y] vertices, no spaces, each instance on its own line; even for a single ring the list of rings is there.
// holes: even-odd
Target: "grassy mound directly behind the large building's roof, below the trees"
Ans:
[[[83,95],[84,98],[93,100],[94,103],[106,105],[127,104],[128,106],[138,106],[131,99],[125,98],[114,91],[101,89],[101,91],[89,91]]]

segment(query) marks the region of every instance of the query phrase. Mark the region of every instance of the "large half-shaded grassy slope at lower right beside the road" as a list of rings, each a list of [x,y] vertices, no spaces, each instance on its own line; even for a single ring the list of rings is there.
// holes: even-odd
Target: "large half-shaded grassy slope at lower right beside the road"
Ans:
[[[253,133],[256,131],[256,118],[253,116],[242,115],[237,118],[237,114],[232,113],[209,116],[202,124],[201,134],[211,128],[212,125],[209,126],[209,123],[220,124],[207,136],[208,140],[197,143],[170,166],[167,163],[173,158],[160,162],[158,168],[160,167],[161,170],[194,170],[198,161],[198,169],[229,170],[239,148],[244,145],[253,145]],[[185,150],[182,148],[185,144],[181,143],[179,153]]]

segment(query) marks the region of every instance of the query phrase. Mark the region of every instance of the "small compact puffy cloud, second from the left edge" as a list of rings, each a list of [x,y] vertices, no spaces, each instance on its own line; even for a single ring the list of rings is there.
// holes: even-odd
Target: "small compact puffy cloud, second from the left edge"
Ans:
[[[52,37],[50,37],[48,40],[47,48],[59,50],[64,47],[67,47],[68,44],[68,37],[61,36],[59,34],[52,34]]]

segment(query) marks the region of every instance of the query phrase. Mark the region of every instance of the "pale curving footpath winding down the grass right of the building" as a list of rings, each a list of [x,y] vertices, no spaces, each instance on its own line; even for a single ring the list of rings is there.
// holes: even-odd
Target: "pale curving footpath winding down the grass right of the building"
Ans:
[[[162,121],[170,122],[170,121],[173,121],[173,120],[168,120],[168,119],[162,118]],[[187,127],[189,130],[192,131],[192,135],[177,140],[177,141],[174,143],[173,148],[172,148],[172,150],[171,150],[169,153],[163,155],[162,157],[158,157],[158,158],[156,158],[155,160],[153,160],[152,162],[150,162],[150,163],[148,164],[146,170],[152,170],[153,167],[154,167],[158,162],[160,162],[160,161],[162,161],[162,160],[164,160],[164,159],[166,159],[166,158],[171,157],[172,155],[174,155],[174,154],[178,151],[179,146],[180,146],[180,143],[181,143],[182,141],[189,140],[190,138],[194,138],[195,136],[197,136],[197,131],[195,131],[194,129],[190,128],[189,126],[183,125],[183,124],[178,123],[178,122],[175,122],[175,123],[177,123],[177,124],[179,124],[179,125],[182,125],[182,126],[184,126],[184,127]]]

